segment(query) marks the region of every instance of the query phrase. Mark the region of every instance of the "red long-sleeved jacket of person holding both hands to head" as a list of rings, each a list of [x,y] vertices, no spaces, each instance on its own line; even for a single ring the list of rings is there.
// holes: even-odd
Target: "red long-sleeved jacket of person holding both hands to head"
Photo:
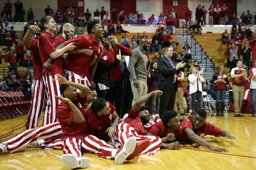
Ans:
[[[132,51],[122,44],[119,44],[119,46],[115,45],[113,48],[108,48],[104,45],[101,58],[104,59],[107,64],[111,64],[116,59],[116,55],[119,54],[119,49],[121,50],[121,55],[132,55]],[[118,62],[115,68],[110,71],[110,81],[117,81],[122,77],[120,62]]]

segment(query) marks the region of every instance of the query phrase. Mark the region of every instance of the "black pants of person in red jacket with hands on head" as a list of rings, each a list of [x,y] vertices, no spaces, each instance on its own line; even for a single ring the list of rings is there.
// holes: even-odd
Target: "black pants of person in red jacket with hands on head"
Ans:
[[[116,107],[116,113],[120,115],[121,99],[123,94],[123,80],[111,81],[107,89],[106,100]]]

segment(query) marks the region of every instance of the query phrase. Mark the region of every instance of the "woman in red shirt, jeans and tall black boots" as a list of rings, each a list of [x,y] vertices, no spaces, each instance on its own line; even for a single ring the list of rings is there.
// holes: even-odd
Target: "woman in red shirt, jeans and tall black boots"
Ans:
[[[220,112],[221,112],[221,116],[224,116],[225,93],[227,89],[226,83],[228,82],[228,77],[224,79],[222,78],[222,76],[225,74],[223,70],[224,70],[223,64],[219,64],[217,66],[217,72],[213,74],[213,78],[212,78],[212,84],[215,84],[215,92],[216,92],[216,116],[220,116]]]

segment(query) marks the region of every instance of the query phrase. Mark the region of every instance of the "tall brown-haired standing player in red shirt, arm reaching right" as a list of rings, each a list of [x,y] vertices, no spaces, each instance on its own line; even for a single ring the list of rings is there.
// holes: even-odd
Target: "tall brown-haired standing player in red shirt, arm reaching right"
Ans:
[[[53,59],[50,70],[43,68],[43,82],[46,87],[47,107],[45,109],[45,118],[43,126],[57,121],[56,107],[60,103],[56,100],[54,94],[60,96],[58,91],[60,82],[56,81],[55,74],[63,75],[62,57],[60,57],[67,50],[72,50],[76,46],[73,43],[68,44],[62,49],[56,49],[57,44],[54,41],[53,34],[57,31],[57,24],[51,16],[45,16],[40,21],[42,25],[43,34],[39,38],[39,54],[43,64],[49,59]]]

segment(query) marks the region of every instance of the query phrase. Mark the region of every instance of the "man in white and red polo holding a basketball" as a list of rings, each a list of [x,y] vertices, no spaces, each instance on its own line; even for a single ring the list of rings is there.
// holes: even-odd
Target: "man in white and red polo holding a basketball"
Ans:
[[[243,96],[244,96],[244,85],[245,81],[247,80],[247,71],[242,68],[243,61],[237,60],[235,68],[232,68],[231,70],[231,78],[232,78],[232,89],[233,89],[233,95],[234,95],[234,117],[242,117],[244,115],[240,115],[240,109],[242,106]],[[240,83],[237,82],[237,79],[239,78],[241,80]],[[236,80],[236,81],[235,81]]]

